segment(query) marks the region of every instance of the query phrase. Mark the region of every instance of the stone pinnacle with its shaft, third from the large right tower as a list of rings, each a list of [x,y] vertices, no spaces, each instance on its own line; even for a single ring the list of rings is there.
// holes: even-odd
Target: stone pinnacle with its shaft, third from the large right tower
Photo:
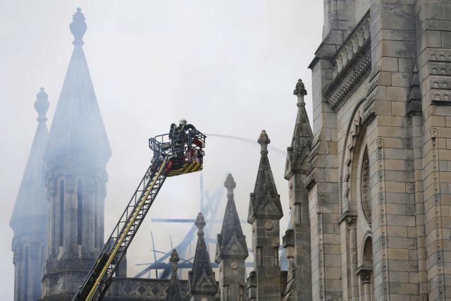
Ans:
[[[247,252],[246,236],[242,233],[233,199],[236,187],[229,173],[224,186],[227,188],[227,206],[221,233],[216,241],[216,263],[219,264],[219,288],[223,301],[245,301]]]

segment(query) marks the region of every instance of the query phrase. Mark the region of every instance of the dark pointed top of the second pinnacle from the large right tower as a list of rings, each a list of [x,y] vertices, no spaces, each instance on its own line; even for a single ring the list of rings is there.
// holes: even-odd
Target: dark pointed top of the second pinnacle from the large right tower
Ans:
[[[254,192],[251,193],[249,202],[249,214],[247,216],[249,223],[252,223],[257,217],[280,219],[283,216],[280,195],[277,193],[276,183],[274,182],[273,172],[268,159],[268,144],[271,140],[269,140],[265,130],[261,131],[257,142],[259,142],[261,147],[261,157]]]

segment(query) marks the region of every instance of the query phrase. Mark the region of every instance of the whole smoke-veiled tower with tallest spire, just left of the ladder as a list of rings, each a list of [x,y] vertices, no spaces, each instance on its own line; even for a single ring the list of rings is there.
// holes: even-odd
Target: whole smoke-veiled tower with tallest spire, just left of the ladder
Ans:
[[[82,49],[85,31],[78,8],[70,23],[73,54],[44,152],[50,209],[44,300],[70,300],[104,243],[111,149]]]

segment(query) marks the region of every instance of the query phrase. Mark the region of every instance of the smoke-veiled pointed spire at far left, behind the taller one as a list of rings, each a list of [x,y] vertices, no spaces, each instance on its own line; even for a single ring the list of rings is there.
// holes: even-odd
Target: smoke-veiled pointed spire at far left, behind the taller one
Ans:
[[[39,93],[36,94],[35,109],[38,113],[38,125],[35,139],[32,142],[22,183],[20,183],[16,204],[11,216],[10,225],[13,229],[20,224],[26,225],[31,219],[39,219],[39,221],[42,220],[44,223],[47,220],[46,168],[42,160],[48,135],[45,123],[47,121],[45,114],[49,109],[47,98],[47,93],[44,92],[42,87]]]

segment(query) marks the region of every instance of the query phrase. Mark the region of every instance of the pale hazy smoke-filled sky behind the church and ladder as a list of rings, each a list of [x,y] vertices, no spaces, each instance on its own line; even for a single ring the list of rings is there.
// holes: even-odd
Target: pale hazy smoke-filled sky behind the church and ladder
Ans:
[[[2,300],[13,300],[8,222],[37,127],[35,94],[41,86],[49,94],[50,127],[73,50],[68,25],[78,6],[86,17],[83,48],[113,152],[107,164],[107,235],[147,168],[148,137],[166,133],[181,117],[204,133],[254,141],[265,129],[271,146],[285,150],[297,112],[292,91],[298,78],[309,92],[311,116],[307,66],[321,42],[323,1],[0,0]],[[247,219],[259,145],[209,137],[205,151],[205,188],[214,192],[226,173],[233,173],[238,214]],[[268,156],[283,203],[284,233],[285,152],[270,149]],[[225,199],[218,219],[223,219]],[[152,262],[150,231],[156,248],[168,251],[168,235],[176,245],[191,226],[150,219],[194,219],[198,211],[199,173],[168,179],[130,246],[128,275],[140,271],[136,263]],[[251,247],[250,225],[242,226]]]

